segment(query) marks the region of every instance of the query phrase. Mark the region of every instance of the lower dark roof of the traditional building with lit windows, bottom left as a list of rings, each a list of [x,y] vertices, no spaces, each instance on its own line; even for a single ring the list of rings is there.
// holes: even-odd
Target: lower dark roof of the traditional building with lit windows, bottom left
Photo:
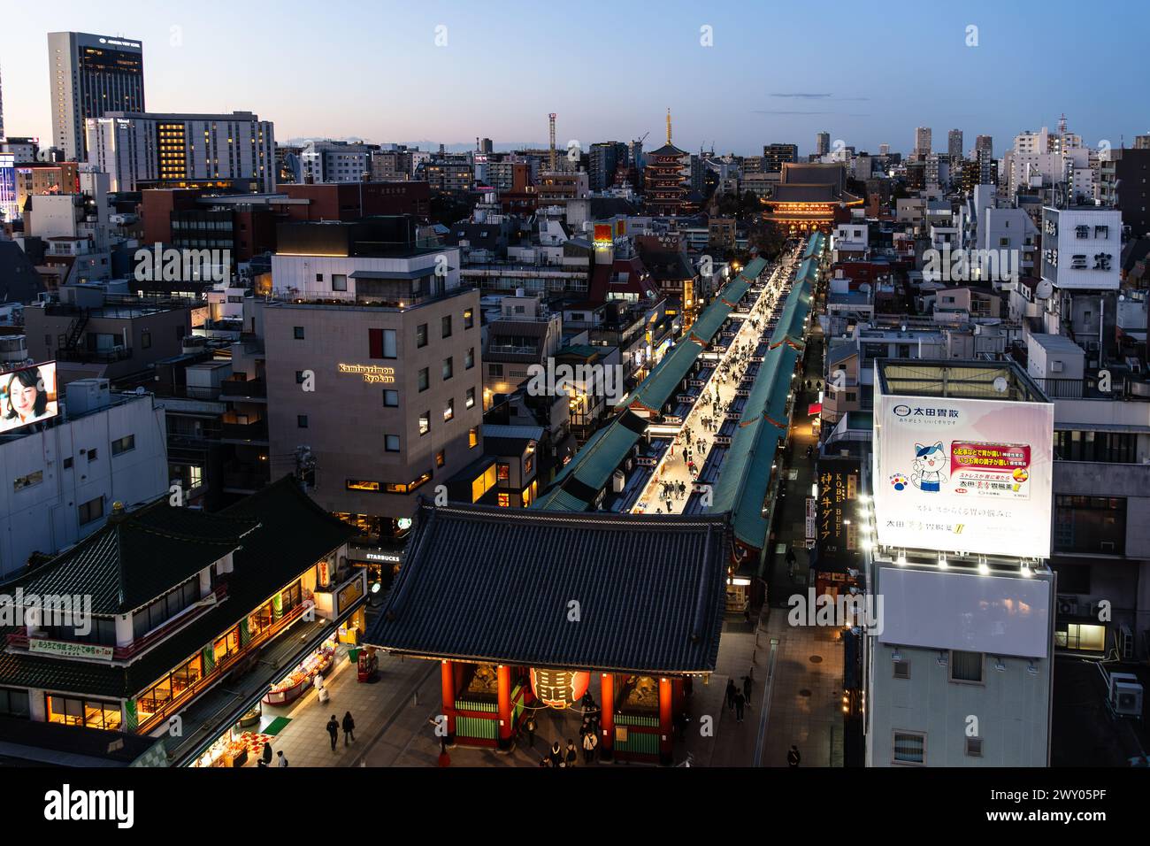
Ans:
[[[166,505],[167,500],[161,502]],[[291,477],[214,517],[258,528],[244,538],[243,548],[235,554],[228,596],[212,611],[128,665],[0,651],[0,686],[135,696],[355,534],[354,528],[316,505]],[[0,638],[13,631],[0,628]]]

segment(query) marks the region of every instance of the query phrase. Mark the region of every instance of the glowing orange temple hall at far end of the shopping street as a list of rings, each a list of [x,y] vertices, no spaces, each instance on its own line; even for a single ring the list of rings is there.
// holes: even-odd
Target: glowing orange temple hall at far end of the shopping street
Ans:
[[[864,203],[846,191],[842,165],[784,163],[762,218],[790,234],[830,233],[836,223],[850,220],[852,206]]]

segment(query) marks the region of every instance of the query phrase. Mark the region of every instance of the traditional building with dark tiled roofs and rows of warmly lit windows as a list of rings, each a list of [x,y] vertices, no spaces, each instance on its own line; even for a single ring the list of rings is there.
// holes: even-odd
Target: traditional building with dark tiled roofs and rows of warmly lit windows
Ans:
[[[353,533],[290,478],[214,515],[167,496],[131,512],[117,503],[103,528],[10,588],[91,596],[91,625],[22,608],[0,632],[0,688],[29,717],[0,719],[0,755],[254,760],[275,730],[264,708],[310,689],[359,642],[367,577],[346,562]]]

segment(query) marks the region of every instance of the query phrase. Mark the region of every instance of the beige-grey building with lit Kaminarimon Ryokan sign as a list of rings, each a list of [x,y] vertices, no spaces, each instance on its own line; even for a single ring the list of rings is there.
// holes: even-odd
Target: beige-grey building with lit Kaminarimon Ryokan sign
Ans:
[[[306,448],[324,509],[391,538],[420,495],[483,455],[478,291],[460,285],[459,249],[411,218],[285,223],[277,237],[256,318],[267,419],[247,424],[284,472]],[[469,481],[477,500],[494,471]]]

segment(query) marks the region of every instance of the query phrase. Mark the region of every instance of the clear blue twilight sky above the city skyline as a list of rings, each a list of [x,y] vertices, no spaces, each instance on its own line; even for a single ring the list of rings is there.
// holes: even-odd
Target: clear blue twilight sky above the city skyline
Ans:
[[[246,109],[276,138],[586,145],[664,138],[697,151],[811,152],[830,132],[858,150],[913,146],[914,128],[1023,129],[1097,145],[1150,132],[1150,5],[1112,0],[882,3],[618,0],[534,5],[390,0],[53,0],[8,3],[0,40],[8,135],[51,138],[48,30],[144,43],[152,112]],[[968,47],[967,28],[977,26]],[[446,39],[445,46],[437,46]],[[710,26],[713,46],[702,46]]]

